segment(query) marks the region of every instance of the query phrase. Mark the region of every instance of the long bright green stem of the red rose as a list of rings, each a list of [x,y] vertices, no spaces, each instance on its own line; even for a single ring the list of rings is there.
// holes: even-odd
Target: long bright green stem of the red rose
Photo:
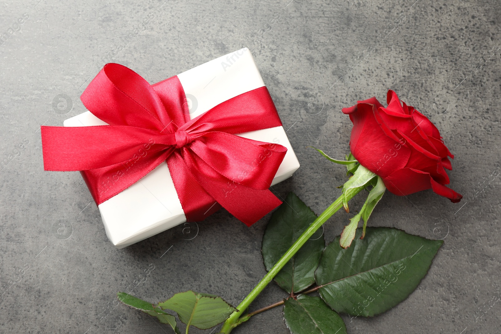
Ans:
[[[304,245],[304,243],[317,231],[317,229],[322,226],[323,223],[327,221],[334,213],[336,213],[340,208],[343,207],[343,197],[346,198],[346,200],[352,199],[356,194],[358,194],[362,189],[365,188],[364,186],[357,187],[357,188],[351,188],[346,191],[344,195],[341,195],[332,203],[324,212],[318,216],[317,219],[311,224],[311,226],[301,234],[301,236],[294,242],[294,244],[285,252],[285,254],[278,260],[277,263],[273,266],[273,268],[268,271],[268,273],[261,279],[261,281],[256,285],[256,287],[250,291],[250,293],[240,302],[240,304],[236,307],[238,309],[238,312],[233,312],[231,315],[226,319],[224,322],[222,328],[221,328],[221,333],[223,334],[229,334],[231,330],[239,325],[240,323],[248,320],[250,316],[257,314],[258,312],[253,312],[253,313],[248,313],[245,315],[242,315],[240,318],[239,315],[242,314],[242,311],[246,310],[247,307],[256,299],[256,297],[263,291],[263,289],[270,283],[275,277],[275,275],[278,274],[278,272],[284,267],[284,265],[296,254],[296,252],[301,248],[301,246]],[[275,304],[274,304],[275,305]],[[278,306],[280,303],[277,303]],[[270,305],[272,306],[272,305]],[[268,306],[268,308],[271,308]],[[265,309],[262,309],[265,310]],[[261,311],[261,310],[260,310]]]

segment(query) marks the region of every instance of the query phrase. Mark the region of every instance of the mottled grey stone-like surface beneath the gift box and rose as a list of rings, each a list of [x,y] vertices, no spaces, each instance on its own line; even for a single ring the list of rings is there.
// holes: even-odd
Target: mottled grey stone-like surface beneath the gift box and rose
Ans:
[[[150,264],[154,270],[133,293],[155,302],[194,289],[236,305],[265,274],[260,246],[269,215],[247,228],[220,210],[198,226],[181,225],[117,250],[80,174],[45,172],[42,163],[40,126],[84,112],[79,97],[106,62],[154,83],[244,46],[302,165],[274,187],[279,196],[294,191],[322,212],[340,194],[345,170],[306,146],[343,157],[351,122],[341,108],[371,96],[385,101],[390,88],[437,125],[456,155],[450,186],[464,195],[461,203],[429,190],[407,198],[387,193],[376,207],[372,226],[445,243],[408,299],[371,319],[345,316],[348,331],[501,332],[501,304],[484,306],[501,293],[499,177],[476,193],[500,168],[499,2],[24,0],[0,6],[0,33],[21,29],[0,46],[0,332],[171,332],[116,306],[116,292]],[[14,25],[25,13],[29,18]],[[139,35],[126,40],[148,15],[153,18]],[[60,94],[68,103],[54,109]],[[339,212],[325,224],[328,241],[349,217]],[[271,283],[251,309],[283,297]],[[280,307],[234,330],[287,332]]]

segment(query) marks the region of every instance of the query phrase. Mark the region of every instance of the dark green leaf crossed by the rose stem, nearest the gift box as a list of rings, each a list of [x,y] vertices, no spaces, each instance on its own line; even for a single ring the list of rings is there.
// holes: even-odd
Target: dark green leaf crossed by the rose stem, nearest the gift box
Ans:
[[[287,195],[284,203],[272,214],[263,236],[261,253],[266,270],[273,267],[316,218],[298,196],[292,192]],[[288,293],[312,285],[324,247],[323,229],[319,229],[275,276],[277,284]]]

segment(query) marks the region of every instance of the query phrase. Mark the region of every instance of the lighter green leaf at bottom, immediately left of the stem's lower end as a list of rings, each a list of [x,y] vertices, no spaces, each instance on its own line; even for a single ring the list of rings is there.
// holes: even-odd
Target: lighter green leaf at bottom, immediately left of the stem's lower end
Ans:
[[[176,293],[170,299],[158,303],[158,306],[176,312],[186,326],[193,325],[200,329],[212,328],[236,311],[219,296],[193,291]]]

